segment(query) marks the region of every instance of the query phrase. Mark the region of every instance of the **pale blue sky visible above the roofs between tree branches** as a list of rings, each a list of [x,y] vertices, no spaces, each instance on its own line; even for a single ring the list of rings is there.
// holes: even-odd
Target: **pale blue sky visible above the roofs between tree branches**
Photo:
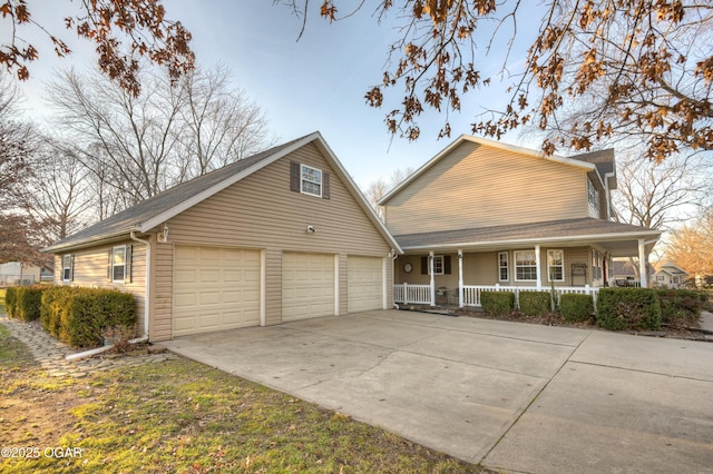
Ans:
[[[245,91],[265,112],[277,141],[319,130],[348,171],[360,186],[388,178],[395,169],[418,168],[445,148],[450,139],[438,140],[445,118],[434,112],[419,119],[421,137],[409,142],[391,137],[383,124],[387,110],[402,95],[394,88],[387,96],[392,107],[373,109],[363,98],[381,80],[388,47],[398,32],[394,14],[378,24],[370,7],[358,14],[330,24],[319,17],[319,2],[312,2],[306,30],[297,41],[301,21],[284,6],[271,0],[165,0],[170,19],[180,20],[193,33],[192,47],[198,62],[212,67],[217,62],[233,71],[234,86]],[[344,6],[349,1],[342,2]],[[74,53],[62,60],[53,58],[51,47],[38,41],[41,61],[32,65],[32,79],[22,85],[30,113],[43,110],[43,83],[57,67],[91,67],[96,61],[91,47],[64,30],[61,18],[76,4],[65,0],[30,2],[32,13],[52,33],[66,39]],[[38,9],[39,7],[39,9]],[[64,10],[64,11],[62,11]],[[504,51],[490,57],[497,73]],[[517,58],[515,58],[517,59]],[[469,134],[469,124],[480,107],[502,108],[507,96],[495,90],[476,90],[463,101],[461,113],[449,117],[455,139]],[[510,135],[504,141],[537,148],[535,139]]]

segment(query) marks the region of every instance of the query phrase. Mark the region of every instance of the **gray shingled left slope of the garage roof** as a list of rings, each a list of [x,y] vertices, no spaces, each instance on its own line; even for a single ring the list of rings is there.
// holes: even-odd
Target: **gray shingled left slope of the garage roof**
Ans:
[[[251,166],[257,165],[263,160],[267,160],[275,154],[279,154],[280,151],[289,148],[293,144],[306,137],[309,136],[287,141],[286,144],[270,148],[257,155],[241,159],[240,161],[177,185],[170,189],[165,190],[164,192],[138,203],[137,205],[131,206],[126,210],[115,214],[114,216],[105,220],[89,226],[86,229],[80,230],[62,240],[59,240],[51,246],[42,249],[42,251],[53,251],[61,248],[70,248],[72,246],[125,235],[131,230],[140,230],[141,224],[145,224],[149,219],[159,216],[163,213],[169,211],[182,203],[185,203],[186,200],[211,189],[222,181],[229,179],[236,174],[248,169]]]

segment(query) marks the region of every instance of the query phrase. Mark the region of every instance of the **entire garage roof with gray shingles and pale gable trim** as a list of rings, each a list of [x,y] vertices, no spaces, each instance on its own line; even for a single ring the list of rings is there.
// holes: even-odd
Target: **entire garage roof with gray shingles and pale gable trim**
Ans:
[[[119,236],[126,236],[131,231],[147,233],[172,217],[204,201],[223,189],[251,176],[257,170],[283,158],[307,144],[315,144],[318,149],[332,165],[334,171],[345,182],[352,197],[368,215],[369,219],[379,229],[380,234],[400,251],[397,241],[387,230],[385,226],[375,215],[364,196],[353,182],[336,156],[329,148],[322,135],[316,131],[297,138],[286,144],[270,148],[252,157],[227,165],[221,169],[194,178],[177,185],[164,192],[123,210],[102,221],[99,221],[64,240],[42,249],[42,251],[60,251],[75,247],[92,245],[102,240],[109,240]]]

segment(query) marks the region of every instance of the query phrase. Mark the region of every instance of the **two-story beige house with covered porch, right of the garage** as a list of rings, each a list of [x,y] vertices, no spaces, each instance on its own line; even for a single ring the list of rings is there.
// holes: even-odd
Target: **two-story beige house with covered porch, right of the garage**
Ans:
[[[596,293],[613,257],[651,251],[661,231],[611,220],[613,150],[573,158],[461,136],[388,192],[404,251],[397,303],[479,306],[484,289]],[[646,282],[643,282],[646,286]]]

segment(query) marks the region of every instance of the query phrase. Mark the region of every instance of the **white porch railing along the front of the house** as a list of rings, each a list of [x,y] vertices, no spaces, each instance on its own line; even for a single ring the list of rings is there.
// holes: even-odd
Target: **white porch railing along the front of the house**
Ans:
[[[462,306],[480,307],[480,295],[482,292],[514,292],[515,300],[519,302],[520,292],[551,292],[553,288],[536,288],[533,286],[500,286],[500,285],[463,285]],[[557,299],[566,294],[592,295],[596,306],[599,288],[587,286],[556,286],[554,288]],[[431,304],[430,285],[393,285],[393,300],[403,304]],[[458,299],[456,298],[456,303]]]

